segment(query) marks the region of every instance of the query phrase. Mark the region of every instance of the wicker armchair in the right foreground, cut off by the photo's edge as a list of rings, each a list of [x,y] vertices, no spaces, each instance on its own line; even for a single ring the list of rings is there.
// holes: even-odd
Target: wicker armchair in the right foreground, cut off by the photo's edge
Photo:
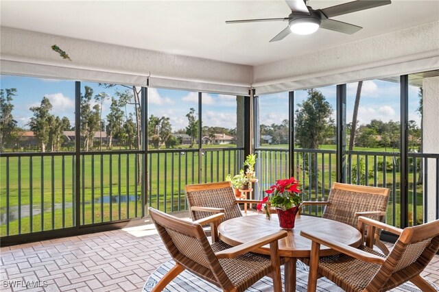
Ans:
[[[366,245],[358,249],[322,239],[315,232],[300,232],[313,241],[311,245],[308,292],[316,291],[317,278],[327,277],[345,291],[388,291],[411,281],[421,291],[436,291],[420,276],[439,249],[439,220],[404,230],[366,217],[359,217],[359,230],[368,226],[368,240],[373,239],[375,228],[399,235],[392,252],[383,256]],[[319,238],[320,237],[320,238]],[[320,245],[342,252],[319,258]]]

